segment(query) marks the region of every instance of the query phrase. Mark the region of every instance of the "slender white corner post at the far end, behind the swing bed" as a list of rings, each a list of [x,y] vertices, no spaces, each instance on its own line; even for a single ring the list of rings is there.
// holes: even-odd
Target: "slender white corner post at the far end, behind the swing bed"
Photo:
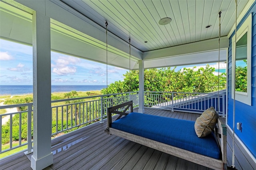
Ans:
[[[139,113],[144,113],[144,61],[139,61]]]

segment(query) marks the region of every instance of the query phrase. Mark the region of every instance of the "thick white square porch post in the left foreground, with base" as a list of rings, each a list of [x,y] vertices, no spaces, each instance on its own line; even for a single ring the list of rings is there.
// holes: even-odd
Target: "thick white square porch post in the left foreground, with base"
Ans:
[[[41,170],[53,163],[51,152],[51,43],[50,18],[33,14],[33,155],[31,168]]]

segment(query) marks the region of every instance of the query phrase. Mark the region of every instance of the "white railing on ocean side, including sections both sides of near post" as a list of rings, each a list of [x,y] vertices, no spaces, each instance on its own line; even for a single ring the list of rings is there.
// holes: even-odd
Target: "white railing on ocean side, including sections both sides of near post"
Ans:
[[[107,107],[112,107],[126,101],[133,101],[134,107],[138,106],[138,92],[117,93],[110,95],[98,95],[90,97],[80,97],[71,99],[62,99],[52,101],[52,135],[74,128],[86,126],[96,121],[102,122],[106,118]],[[0,109],[25,107],[25,111],[17,111],[14,113],[5,113],[0,115],[0,154],[10,150],[18,149],[26,150],[26,153],[32,152],[32,107],[33,103],[24,103],[17,105],[0,106]],[[23,109],[24,110],[24,109]],[[15,116],[17,115],[17,116]],[[9,117],[6,123],[2,123],[3,117]],[[19,119],[18,125],[13,119]],[[26,121],[26,129],[22,122]],[[15,133],[15,135],[14,135]],[[24,133],[26,137],[24,137]],[[8,135],[3,141],[3,135]],[[6,149],[2,148],[2,143],[8,145]],[[13,146],[15,144],[15,146]]]

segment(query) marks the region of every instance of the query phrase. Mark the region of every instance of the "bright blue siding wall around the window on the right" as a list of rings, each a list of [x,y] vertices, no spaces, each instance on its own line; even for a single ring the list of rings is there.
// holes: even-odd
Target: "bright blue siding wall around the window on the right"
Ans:
[[[244,16],[242,22],[252,13],[252,106],[239,101],[235,103],[235,133],[244,142],[256,158],[256,3]],[[233,33],[234,35],[234,33]],[[233,128],[233,99],[232,99],[232,36],[228,49],[228,126]],[[236,129],[236,123],[242,123],[242,131]]]

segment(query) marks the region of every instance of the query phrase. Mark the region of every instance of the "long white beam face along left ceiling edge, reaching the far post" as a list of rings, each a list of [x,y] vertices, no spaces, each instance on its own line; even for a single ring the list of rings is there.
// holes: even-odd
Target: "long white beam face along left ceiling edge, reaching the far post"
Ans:
[[[31,8],[37,12],[45,14],[46,16],[65,24],[79,32],[82,32],[92,38],[99,40],[100,42],[106,43],[106,29],[102,28],[95,22],[86,18],[79,12],[73,10],[61,1],[52,0],[15,0],[16,2]],[[128,38],[127,38],[128,40]],[[129,44],[124,40],[118,38],[114,34],[108,32],[108,45],[115,47],[120,51],[129,53]],[[142,51],[131,47],[131,55],[133,58],[141,60]]]

